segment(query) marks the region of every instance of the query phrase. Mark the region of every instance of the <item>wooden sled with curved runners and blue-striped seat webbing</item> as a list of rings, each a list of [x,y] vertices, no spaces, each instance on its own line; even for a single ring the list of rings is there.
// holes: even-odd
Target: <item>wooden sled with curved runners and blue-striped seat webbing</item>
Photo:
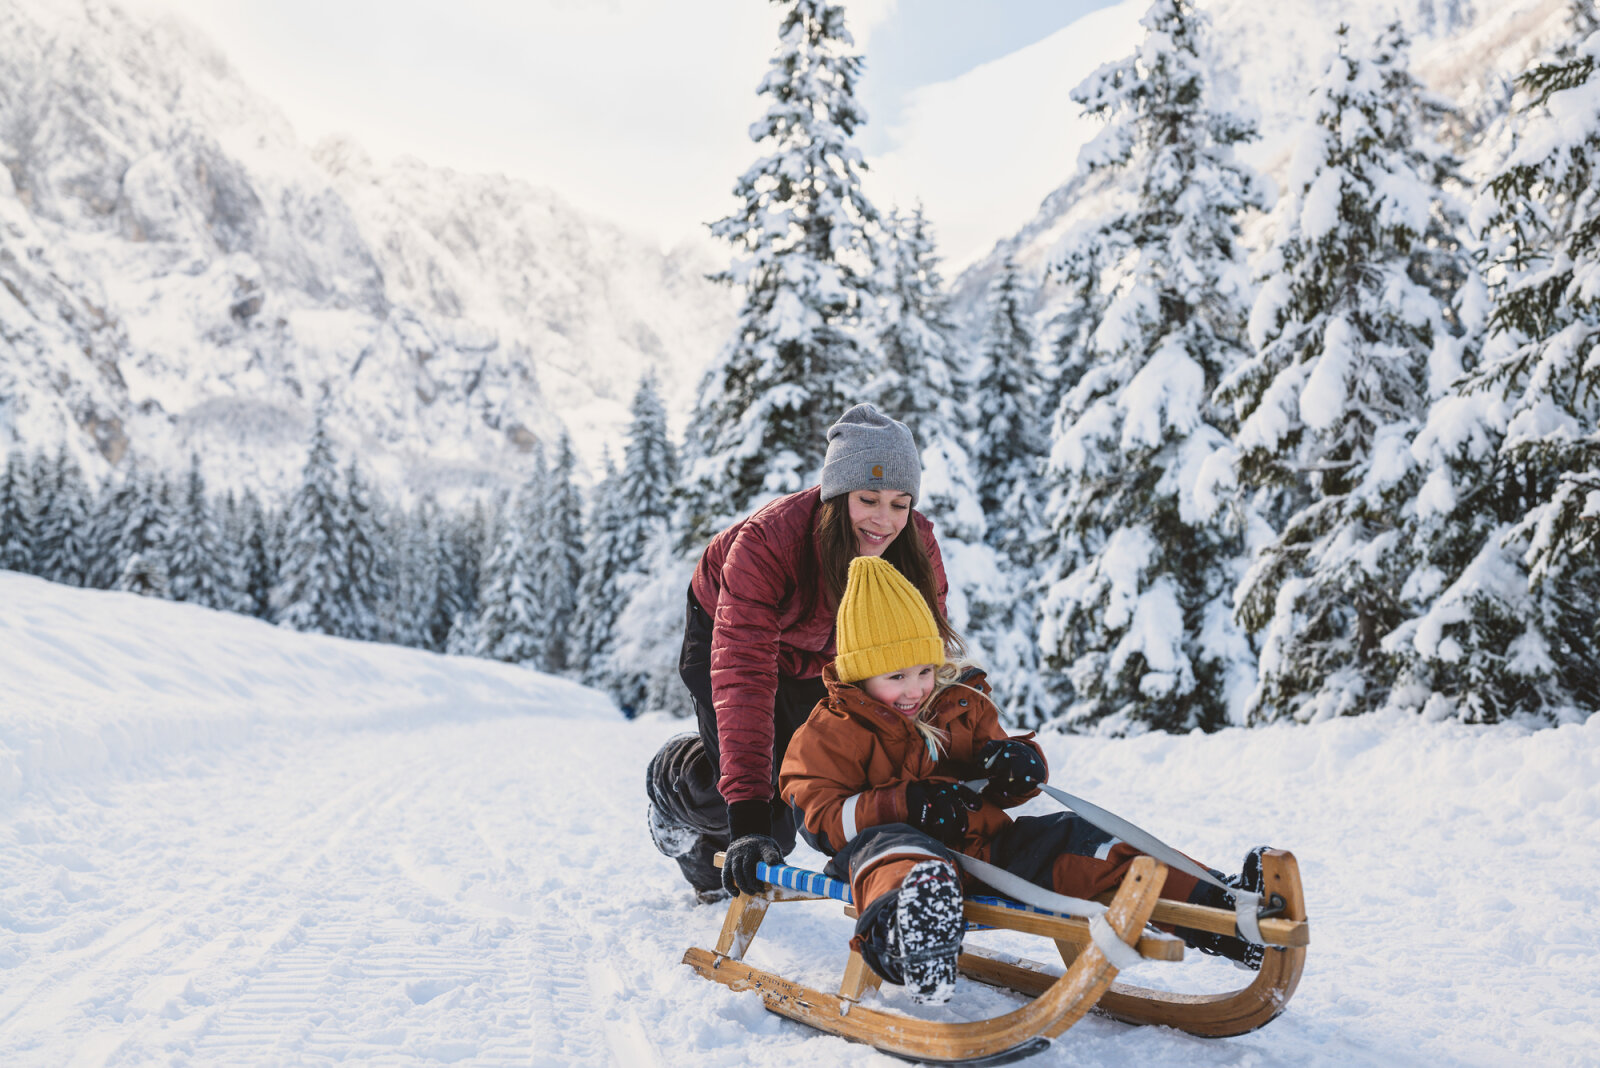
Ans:
[[[717,859],[718,863],[722,859]],[[1190,1034],[1222,1038],[1253,1031],[1283,1012],[1294,994],[1310,940],[1306,899],[1293,854],[1267,851],[1261,859],[1262,900],[1280,905],[1261,919],[1267,950],[1261,970],[1246,986],[1226,994],[1179,994],[1115,983],[1117,967],[1094,945],[1088,921],[1043,913],[1000,899],[968,899],[968,931],[994,927],[1042,935],[1054,942],[1066,962],[1062,974],[1019,958],[968,946],[958,961],[968,978],[1032,998],[1021,1007],[976,1022],[939,1022],[885,1012],[861,1004],[878,977],[850,951],[837,993],[824,993],[763,972],[744,962],[766,910],[776,902],[850,900],[842,883],[816,871],[763,865],[768,889],[741,894],[728,905],[715,950],[690,948],[683,962],[730,990],[754,990],[768,1010],[808,1026],[866,1042],[886,1054],[930,1063],[998,1063],[1050,1044],[1090,1010],[1128,1023],[1158,1023]],[[1234,913],[1184,905],[1157,897],[1165,865],[1138,857],[1122,887],[1107,902],[1106,921],[1144,961],[1181,961],[1184,945],[1155,929],[1154,921],[1234,934]],[[846,908],[853,915],[853,908]]]

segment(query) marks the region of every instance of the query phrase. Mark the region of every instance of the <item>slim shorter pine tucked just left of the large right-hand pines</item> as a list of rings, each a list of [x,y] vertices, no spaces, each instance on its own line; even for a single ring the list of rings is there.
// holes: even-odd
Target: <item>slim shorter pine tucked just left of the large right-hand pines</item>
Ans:
[[[989,317],[971,389],[971,472],[986,518],[986,539],[1011,566],[1032,571],[1042,526],[1040,472],[1045,379],[1029,325],[1032,286],[1006,256],[989,288]]]

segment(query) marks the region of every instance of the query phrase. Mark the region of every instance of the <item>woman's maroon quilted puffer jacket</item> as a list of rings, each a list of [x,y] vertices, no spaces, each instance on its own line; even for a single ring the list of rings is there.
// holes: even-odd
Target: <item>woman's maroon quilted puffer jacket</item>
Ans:
[[[818,678],[834,660],[834,609],[811,528],[819,486],[778,497],[717,534],[690,588],[712,619],[710,687],[722,745],[718,788],[730,804],[773,796],[773,700],[778,676]],[[944,614],[944,560],[933,523],[910,513],[933,560]],[[800,588],[802,553],[814,590]],[[810,611],[808,611],[810,609]]]

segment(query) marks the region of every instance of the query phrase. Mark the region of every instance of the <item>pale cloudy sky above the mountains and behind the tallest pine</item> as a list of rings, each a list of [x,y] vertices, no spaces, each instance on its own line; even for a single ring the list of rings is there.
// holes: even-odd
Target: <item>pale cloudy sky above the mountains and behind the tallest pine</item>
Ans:
[[[344,133],[379,160],[525,177],[664,246],[704,233],[755,158],[747,130],[781,14],[760,0],[133,3],[206,30],[307,144]],[[954,265],[1026,221],[1070,158],[1045,145],[987,166],[970,126],[1022,109],[1048,137],[1070,102],[974,99],[995,78],[971,72],[1109,3],[846,0],[867,58],[858,142],[883,163],[869,185],[880,206],[922,200]]]

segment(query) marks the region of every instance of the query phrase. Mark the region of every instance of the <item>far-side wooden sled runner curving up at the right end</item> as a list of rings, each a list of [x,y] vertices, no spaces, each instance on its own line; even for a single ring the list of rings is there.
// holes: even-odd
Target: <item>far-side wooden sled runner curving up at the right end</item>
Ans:
[[[1158,1023],[1190,1034],[1229,1038],[1266,1026],[1277,1018],[1306,969],[1306,894],[1301,887],[1299,865],[1294,854],[1269,849],[1261,855],[1261,873],[1266,879],[1262,897],[1280,894],[1285,902],[1280,923],[1274,931],[1286,931],[1285,942],[1274,945],[1261,962],[1254,980],[1240,990],[1222,994],[1182,994],[1166,990],[1149,990],[1128,983],[1115,983],[1094,1006],[1094,1010],[1125,1023]],[[1155,911],[1157,919],[1168,919]],[[1262,924],[1264,932],[1269,924]],[[1118,929],[1120,932],[1120,929]],[[1066,954],[1064,954],[1066,956]],[[986,983],[1010,986],[1026,994],[1043,994],[1054,975],[979,951],[962,954],[962,974]]]

